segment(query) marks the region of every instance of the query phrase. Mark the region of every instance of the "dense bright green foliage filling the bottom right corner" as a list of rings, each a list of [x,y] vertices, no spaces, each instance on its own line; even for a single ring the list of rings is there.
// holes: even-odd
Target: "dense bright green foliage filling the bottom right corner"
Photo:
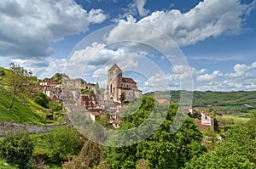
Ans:
[[[186,163],[194,168],[255,168],[256,167],[256,111],[246,124],[236,124],[225,134],[215,149]]]

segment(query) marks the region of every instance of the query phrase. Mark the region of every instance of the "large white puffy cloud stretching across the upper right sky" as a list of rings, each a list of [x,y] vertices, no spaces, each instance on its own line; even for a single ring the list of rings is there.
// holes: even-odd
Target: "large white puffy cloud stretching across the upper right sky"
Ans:
[[[143,39],[157,37],[151,32],[129,29],[124,23],[149,25],[163,31],[177,42],[179,46],[188,46],[203,41],[208,37],[218,37],[226,31],[239,32],[251,4],[241,4],[236,0],[205,0],[198,3],[187,13],[177,9],[170,11],[155,11],[142,20],[134,20],[129,16],[127,20],[119,20],[119,25],[109,34],[108,41],[123,39],[130,36],[139,36]],[[146,41],[146,40],[145,40]]]

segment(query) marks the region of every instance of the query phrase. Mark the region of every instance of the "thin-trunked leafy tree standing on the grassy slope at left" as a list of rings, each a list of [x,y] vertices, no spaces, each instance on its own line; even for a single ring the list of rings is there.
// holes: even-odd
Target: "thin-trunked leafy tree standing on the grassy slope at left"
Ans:
[[[20,65],[15,65],[14,63],[9,65],[9,72],[3,76],[2,83],[9,87],[12,94],[11,103],[9,104],[10,110],[18,94],[32,91],[32,81],[35,80],[35,77],[32,76],[32,71],[28,71],[20,67]]]

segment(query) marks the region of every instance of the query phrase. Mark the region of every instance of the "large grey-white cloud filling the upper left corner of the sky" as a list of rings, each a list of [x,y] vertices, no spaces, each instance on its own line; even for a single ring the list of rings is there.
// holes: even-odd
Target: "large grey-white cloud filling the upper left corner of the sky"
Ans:
[[[106,20],[102,9],[84,10],[73,0],[2,0],[0,54],[20,58],[48,56],[49,42],[87,31]]]

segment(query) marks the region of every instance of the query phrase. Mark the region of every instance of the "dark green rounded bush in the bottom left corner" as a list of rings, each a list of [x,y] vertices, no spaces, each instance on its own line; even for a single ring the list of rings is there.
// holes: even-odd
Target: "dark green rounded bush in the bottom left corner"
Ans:
[[[34,144],[26,133],[8,134],[0,144],[1,157],[9,164],[26,168],[32,157]]]

